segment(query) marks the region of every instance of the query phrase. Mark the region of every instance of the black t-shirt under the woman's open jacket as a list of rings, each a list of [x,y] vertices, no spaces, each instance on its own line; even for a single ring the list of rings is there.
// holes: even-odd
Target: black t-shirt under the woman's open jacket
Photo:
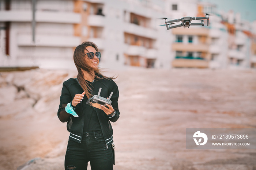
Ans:
[[[95,89],[93,88],[93,84],[95,82],[89,82],[89,81],[86,81],[86,82],[89,83],[91,89],[93,91],[95,91]],[[84,112],[83,132],[101,132],[102,131],[101,125],[99,124],[99,119],[98,119],[97,113],[94,110],[94,107],[86,104],[87,100],[88,100],[88,98],[85,95],[84,99],[83,99],[83,112]]]

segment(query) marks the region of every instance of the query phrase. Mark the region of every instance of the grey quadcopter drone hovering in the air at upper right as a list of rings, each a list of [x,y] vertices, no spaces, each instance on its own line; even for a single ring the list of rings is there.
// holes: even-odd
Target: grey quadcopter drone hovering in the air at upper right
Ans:
[[[190,27],[190,26],[204,26],[204,19],[207,19],[207,26],[209,25],[209,14],[206,13],[205,17],[190,17],[186,16],[181,19],[173,19],[168,21],[167,18],[161,18],[165,20],[165,24],[161,26],[166,26],[167,30],[170,30],[172,28],[177,28],[177,27]],[[191,23],[192,20],[201,20],[201,23]],[[170,26],[172,24],[175,24],[177,22],[180,22],[181,24],[178,24],[176,26]]]

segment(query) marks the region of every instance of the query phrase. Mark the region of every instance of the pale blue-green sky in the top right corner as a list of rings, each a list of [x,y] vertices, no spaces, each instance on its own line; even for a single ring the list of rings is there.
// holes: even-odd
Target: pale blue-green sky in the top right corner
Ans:
[[[242,20],[256,20],[256,0],[201,0],[217,5],[217,11],[241,13]]]

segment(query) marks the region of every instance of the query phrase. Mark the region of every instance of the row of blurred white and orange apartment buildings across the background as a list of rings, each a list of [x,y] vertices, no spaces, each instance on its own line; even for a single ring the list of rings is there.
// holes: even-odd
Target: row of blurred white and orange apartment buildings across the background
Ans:
[[[98,45],[103,68],[255,67],[250,24],[216,10],[197,0],[0,0],[0,67],[75,69],[84,41]],[[205,13],[208,27],[157,26]]]

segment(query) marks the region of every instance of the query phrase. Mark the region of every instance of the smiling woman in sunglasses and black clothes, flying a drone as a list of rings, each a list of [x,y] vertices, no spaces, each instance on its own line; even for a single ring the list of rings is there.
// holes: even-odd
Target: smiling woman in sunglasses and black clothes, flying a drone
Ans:
[[[63,83],[58,117],[67,122],[69,131],[65,155],[65,170],[87,169],[90,161],[92,170],[113,170],[114,144],[110,121],[119,118],[118,87],[98,69],[98,47],[92,42],[83,42],[74,51],[77,78]],[[101,109],[86,104],[86,101],[102,88],[100,96],[107,98],[113,92],[111,105]]]

